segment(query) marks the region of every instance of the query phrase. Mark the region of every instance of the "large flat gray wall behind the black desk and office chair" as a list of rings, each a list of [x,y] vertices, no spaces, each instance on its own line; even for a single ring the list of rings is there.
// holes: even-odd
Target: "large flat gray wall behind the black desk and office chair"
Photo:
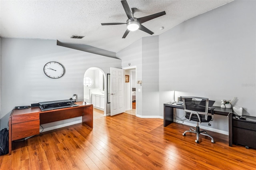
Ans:
[[[160,35],[159,87],[161,115],[175,90],[216,106],[237,97],[236,106],[256,116],[256,1],[230,2]],[[227,117],[215,115],[211,124],[228,132]]]

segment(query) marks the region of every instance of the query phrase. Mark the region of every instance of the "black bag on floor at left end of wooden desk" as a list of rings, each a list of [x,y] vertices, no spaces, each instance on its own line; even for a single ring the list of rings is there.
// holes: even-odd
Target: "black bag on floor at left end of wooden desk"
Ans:
[[[0,155],[9,153],[9,130],[4,128],[0,131]]]

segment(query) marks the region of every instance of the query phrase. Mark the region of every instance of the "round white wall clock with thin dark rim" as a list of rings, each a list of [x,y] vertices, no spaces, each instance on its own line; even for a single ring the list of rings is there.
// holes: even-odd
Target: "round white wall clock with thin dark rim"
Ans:
[[[44,73],[52,79],[58,79],[64,75],[65,69],[60,63],[51,61],[44,65]]]

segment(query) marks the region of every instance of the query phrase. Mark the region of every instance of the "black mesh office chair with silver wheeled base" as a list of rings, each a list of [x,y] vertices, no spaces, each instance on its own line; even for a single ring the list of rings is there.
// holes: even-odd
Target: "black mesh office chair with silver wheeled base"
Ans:
[[[189,121],[196,121],[196,130],[190,128],[186,130],[182,135],[186,136],[186,132],[196,133],[196,143],[199,143],[199,134],[210,137],[211,142],[214,143],[212,136],[207,134],[205,130],[201,130],[198,126],[198,123],[210,122],[213,120],[213,114],[208,113],[208,103],[209,100],[203,97],[182,97],[184,114],[186,119]],[[193,130],[193,131],[192,131]]]

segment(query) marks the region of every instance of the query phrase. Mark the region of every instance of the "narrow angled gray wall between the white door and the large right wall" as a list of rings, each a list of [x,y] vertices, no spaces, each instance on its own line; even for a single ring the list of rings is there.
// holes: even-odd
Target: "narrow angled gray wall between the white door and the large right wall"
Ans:
[[[137,116],[158,117],[158,36],[142,38],[116,53],[116,57],[122,59],[122,68],[136,66],[137,81],[142,80],[142,85],[137,84],[136,87]]]

